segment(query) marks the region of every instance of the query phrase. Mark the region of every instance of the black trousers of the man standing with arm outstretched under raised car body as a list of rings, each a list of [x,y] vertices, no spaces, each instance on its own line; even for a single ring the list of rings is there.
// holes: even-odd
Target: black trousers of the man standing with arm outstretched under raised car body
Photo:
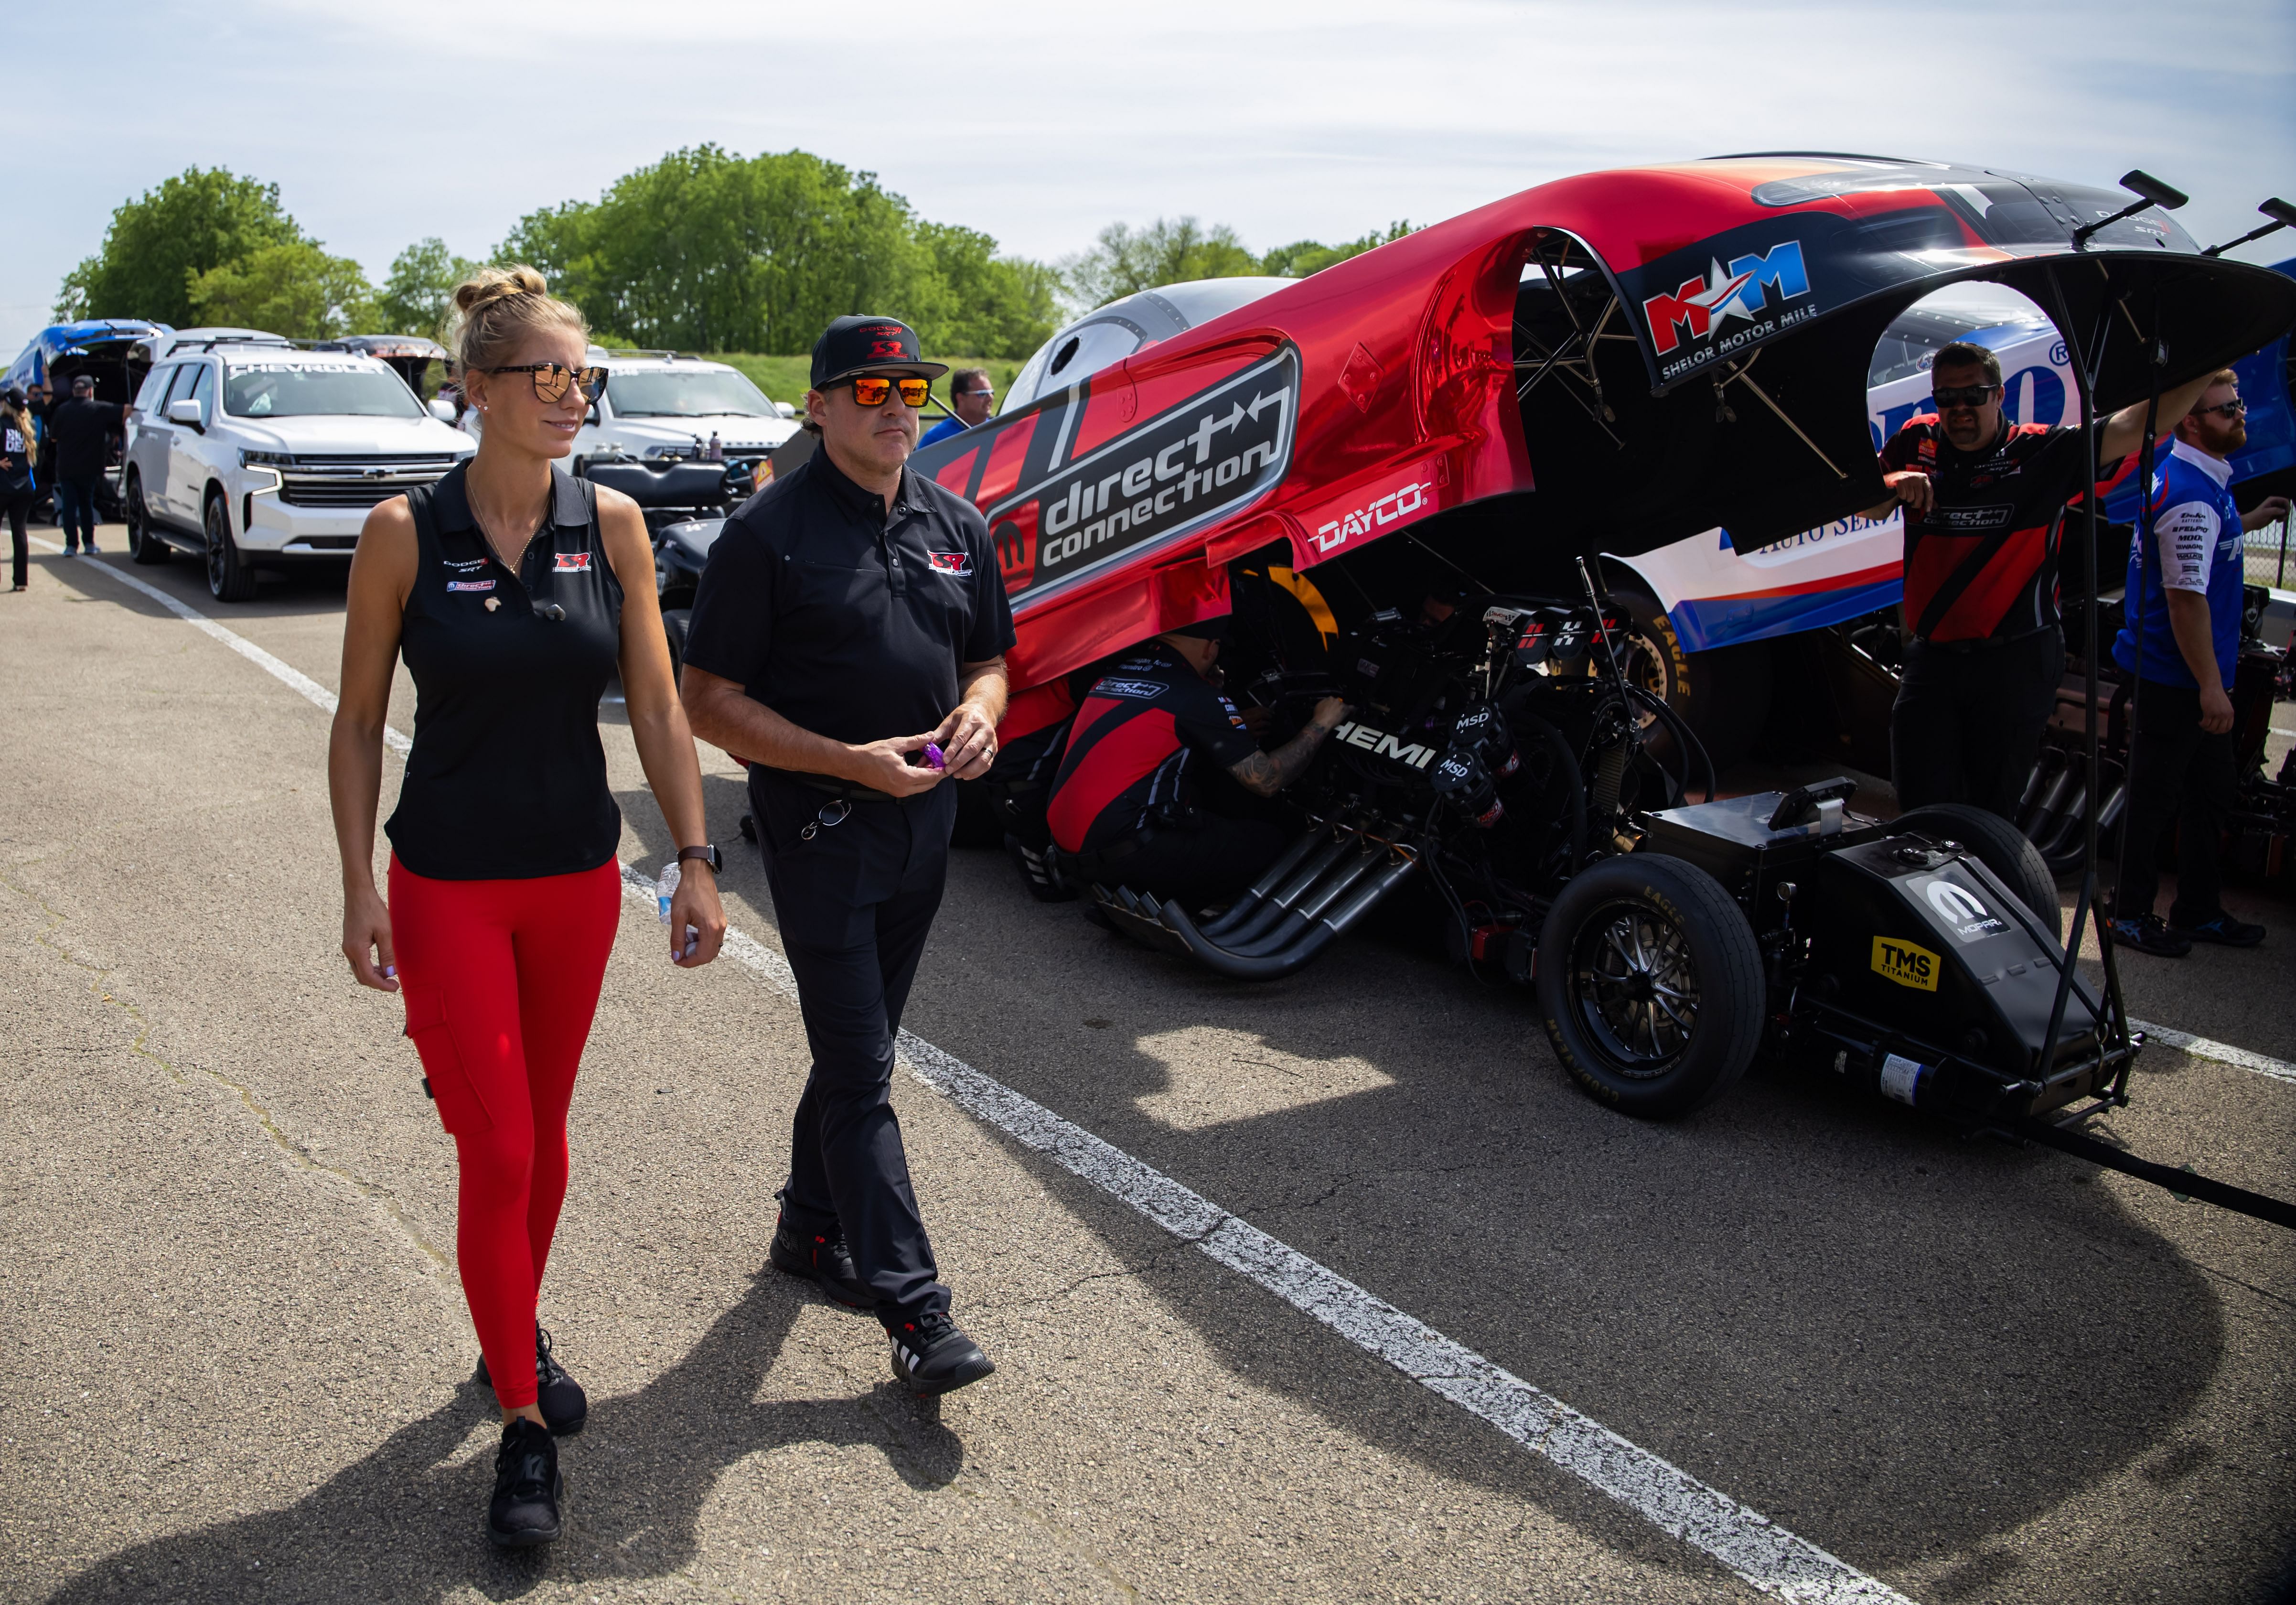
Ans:
[[[1915,641],[1906,652],[1890,710],[1896,804],[1965,801],[2016,822],[2064,680],[2064,631],[1956,648]]]

